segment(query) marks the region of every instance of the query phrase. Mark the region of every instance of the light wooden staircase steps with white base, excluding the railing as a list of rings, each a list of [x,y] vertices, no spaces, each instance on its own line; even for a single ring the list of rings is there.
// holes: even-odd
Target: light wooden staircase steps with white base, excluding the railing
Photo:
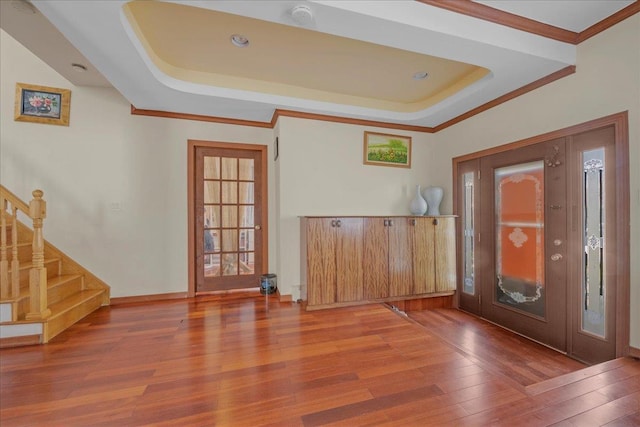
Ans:
[[[45,240],[46,307],[51,314],[31,319],[29,275],[34,267],[34,231],[5,214],[6,218],[11,219],[6,221],[7,248],[13,248],[12,236],[17,235],[20,290],[17,297],[0,299],[0,348],[47,343],[89,313],[109,305],[109,286]],[[17,233],[12,224],[17,226]],[[13,274],[10,262],[8,273],[9,277]]]

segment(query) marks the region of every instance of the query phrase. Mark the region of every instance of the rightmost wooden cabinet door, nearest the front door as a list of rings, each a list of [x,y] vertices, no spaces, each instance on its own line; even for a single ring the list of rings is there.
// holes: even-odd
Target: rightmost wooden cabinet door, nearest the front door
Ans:
[[[456,224],[455,218],[436,218],[435,271],[436,291],[456,289]]]

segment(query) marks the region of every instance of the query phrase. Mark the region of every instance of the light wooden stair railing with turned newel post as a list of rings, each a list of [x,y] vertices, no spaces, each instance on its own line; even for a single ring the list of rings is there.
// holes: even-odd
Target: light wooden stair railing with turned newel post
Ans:
[[[47,202],[42,190],[32,192],[33,200],[26,204],[11,191],[0,185],[0,297],[15,299],[20,295],[20,260],[18,259],[18,211],[33,221],[32,268],[29,271],[29,312],[27,320],[43,320],[51,311],[47,307],[47,269],[44,266],[43,220],[47,216]],[[7,221],[11,221],[11,269]],[[11,270],[11,275],[9,275]],[[10,276],[10,277],[9,277]]]

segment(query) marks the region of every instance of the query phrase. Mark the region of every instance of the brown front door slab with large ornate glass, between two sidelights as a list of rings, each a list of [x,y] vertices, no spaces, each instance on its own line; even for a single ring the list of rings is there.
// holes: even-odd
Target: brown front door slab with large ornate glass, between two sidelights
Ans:
[[[566,349],[565,139],[481,159],[482,316]]]

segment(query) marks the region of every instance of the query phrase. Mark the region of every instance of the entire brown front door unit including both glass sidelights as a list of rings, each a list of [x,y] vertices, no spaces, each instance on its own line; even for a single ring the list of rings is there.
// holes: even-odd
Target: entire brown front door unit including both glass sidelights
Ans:
[[[461,309],[587,363],[622,354],[616,141],[613,125],[580,129],[457,163]]]

